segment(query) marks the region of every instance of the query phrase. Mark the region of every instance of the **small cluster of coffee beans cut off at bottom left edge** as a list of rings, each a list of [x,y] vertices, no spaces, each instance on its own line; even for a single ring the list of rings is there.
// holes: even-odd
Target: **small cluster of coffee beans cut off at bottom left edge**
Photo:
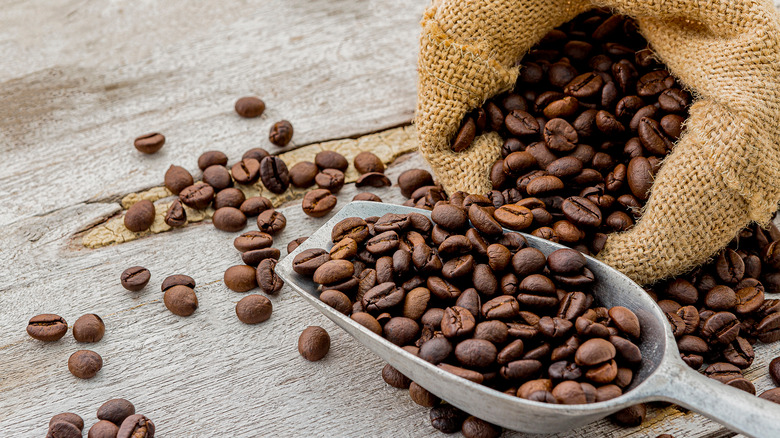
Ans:
[[[103,403],[97,411],[98,421],[89,428],[89,438],[154,438],[154,423],[136,414],[135,406],[115,398]],[[84,420],[78,414],[65,412],[49,420],[47,438],[81,438]]]

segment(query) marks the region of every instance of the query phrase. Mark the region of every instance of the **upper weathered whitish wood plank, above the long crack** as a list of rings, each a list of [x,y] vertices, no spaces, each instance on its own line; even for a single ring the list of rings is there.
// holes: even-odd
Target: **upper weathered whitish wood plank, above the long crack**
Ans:
[[[294,147],[413,116],[419,0],[5,3],[0,225],[143,190],[171,162],[198,170],[207,149],[278,151],[280,119]],[[260,119],[235,114],[247,94]],[[149,131],[167,142],[142,156]]]

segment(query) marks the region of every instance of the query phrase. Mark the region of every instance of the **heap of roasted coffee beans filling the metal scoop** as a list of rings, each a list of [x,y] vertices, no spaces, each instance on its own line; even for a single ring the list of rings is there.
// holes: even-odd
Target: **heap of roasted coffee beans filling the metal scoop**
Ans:
[[[460,377],[535,401],[593,403],[621,395],[641,363],[639,320],[594,302],[582,253],[545,257],[478,205],[440,202],[431,219],[351,217],[332,238],[330,251],[293,261],[320,299]],[[412,388],[413,400],[436,404]]]

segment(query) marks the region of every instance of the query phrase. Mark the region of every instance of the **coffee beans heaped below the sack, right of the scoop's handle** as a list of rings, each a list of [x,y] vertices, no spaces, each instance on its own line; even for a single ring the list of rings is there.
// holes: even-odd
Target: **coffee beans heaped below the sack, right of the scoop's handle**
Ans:
[[[780,300],[764,296],[780,292],[780,230],[750,226],[710,263],[648,292],[666,313],[685,363],[756,393],[742,370],[753,364],[753,344],[780,340]]]

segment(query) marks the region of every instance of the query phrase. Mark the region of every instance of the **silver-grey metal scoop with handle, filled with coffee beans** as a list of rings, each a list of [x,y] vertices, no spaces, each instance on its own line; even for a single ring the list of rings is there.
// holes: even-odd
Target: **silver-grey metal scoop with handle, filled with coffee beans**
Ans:
[[[510,396],[444,371],[369,331],[319,300],[317,285],[292,269],[292,260],[309,248],[329,249],[331,229],[347,217],[430,212],[378,202],[351,202],[276,266],[276,272],[309,303],[401,373],[452,405],[508,429],[552,433],[574,429],[623,408],[648,401],[684,406],[751,437],[780,437],[780,405],[704,377],[681,359],[666,317],[647,293],[608,265],[587,257],[596,276],[593,293],[600,305],[625,306],[642,327],[642,363],[622,396],[582,405],[546,404]],[[528,245],[545,255],[563,248],[528,234]]]

